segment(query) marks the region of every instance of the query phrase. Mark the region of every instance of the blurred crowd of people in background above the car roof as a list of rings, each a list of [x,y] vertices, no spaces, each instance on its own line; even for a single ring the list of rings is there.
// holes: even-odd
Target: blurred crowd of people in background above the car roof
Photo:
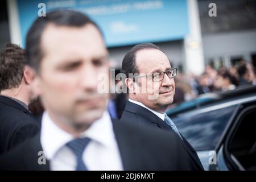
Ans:
[[[248,61],[241,60],[230,68],[214,69],[207,65],[199,76],[193,73],[178,73],[176,77],[176,104],[192,100],[201,94],[225,92],[240,86],[256,85],[255,68]]]

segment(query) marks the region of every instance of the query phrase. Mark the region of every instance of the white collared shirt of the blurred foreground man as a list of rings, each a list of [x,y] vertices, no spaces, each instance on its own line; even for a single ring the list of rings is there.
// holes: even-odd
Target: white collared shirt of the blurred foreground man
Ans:
[[[82,156],[88,170],[123,170],[112,121],[107,111],[82,133],[82,137],[91,139]],[[76,156],[65,146],[72,139],[71,134],[55,125],[48,113],[44,112],[40,140],[52,171],[75,170]]]

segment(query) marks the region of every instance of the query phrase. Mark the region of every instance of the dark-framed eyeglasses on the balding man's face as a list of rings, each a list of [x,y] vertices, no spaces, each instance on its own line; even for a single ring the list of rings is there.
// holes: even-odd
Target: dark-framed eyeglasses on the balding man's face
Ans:
[[[155,73],[148,73],[147,75],[142,75],[142,76],[134,76],[133,78],[149,76],[152,78],[152,81],[157,82],[157,81],[162,81],[165,74],[169,78],[174,78],[177,75],[177,68],[171,68],[165,72],[155,72]]]

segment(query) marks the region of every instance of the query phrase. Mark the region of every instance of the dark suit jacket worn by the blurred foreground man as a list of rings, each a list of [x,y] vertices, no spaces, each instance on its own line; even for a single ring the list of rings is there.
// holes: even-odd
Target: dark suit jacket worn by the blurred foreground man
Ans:
[[[113,129],[125,170],[197,170],[174,133],[113,121]],[[0,156],[1,170],[49,170],[49,161],[38,164],[40,134]],[[42,159],[42,158],[41,158]]]

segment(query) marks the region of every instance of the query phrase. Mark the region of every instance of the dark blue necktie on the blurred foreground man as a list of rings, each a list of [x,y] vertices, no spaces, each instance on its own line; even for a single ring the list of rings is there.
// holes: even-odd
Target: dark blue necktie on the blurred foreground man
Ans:
[[[67,146],[71,148],[72,152],[76,155],[76,171],[88,171],[88,168],[82,160],[82,154],[89,142],[89,138],[77,138],[67,143]]]

